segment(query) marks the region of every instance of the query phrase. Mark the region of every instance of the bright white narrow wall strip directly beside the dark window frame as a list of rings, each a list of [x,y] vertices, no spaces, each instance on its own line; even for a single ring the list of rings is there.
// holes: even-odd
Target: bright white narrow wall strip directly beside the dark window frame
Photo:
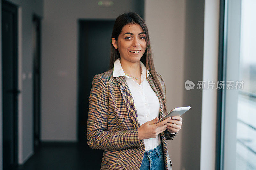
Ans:
[[[205,0],[203,81],[218,80],[219,8],[220,1]],[[200,169],[215,169],[216,113],[217,89],[203,90]]]

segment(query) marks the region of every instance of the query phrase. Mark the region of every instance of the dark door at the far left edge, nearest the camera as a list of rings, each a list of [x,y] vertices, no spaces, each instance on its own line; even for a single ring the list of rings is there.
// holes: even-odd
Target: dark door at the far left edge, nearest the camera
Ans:
[[[18,160],[17,7],[2,0],[3,169]]]

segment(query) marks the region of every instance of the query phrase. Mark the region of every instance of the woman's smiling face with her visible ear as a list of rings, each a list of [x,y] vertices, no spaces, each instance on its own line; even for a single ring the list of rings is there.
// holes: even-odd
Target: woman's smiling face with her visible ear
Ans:
[[[145,33],[137,23],[126,24],[118,36],[112,38],[113,46],[118,49],[122,59],[130,62],[139,62],[146,51]]]

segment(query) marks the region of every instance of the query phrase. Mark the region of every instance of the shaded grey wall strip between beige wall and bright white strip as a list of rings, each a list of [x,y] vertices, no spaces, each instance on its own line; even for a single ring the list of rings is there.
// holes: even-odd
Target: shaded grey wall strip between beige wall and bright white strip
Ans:
[[[186,1],[184,78],[197,84],[203,78],[204,0]],[[183,104],[191,106],[183,119],[182,170],[200,169],[202,90],[183,89]],[[215,134],[214,134],[215,135]]]

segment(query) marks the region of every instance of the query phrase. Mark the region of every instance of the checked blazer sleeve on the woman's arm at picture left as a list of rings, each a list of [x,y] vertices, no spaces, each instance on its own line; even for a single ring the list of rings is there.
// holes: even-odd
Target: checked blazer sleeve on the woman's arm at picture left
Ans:
[[[92,149],[102,150],[142,148],[143,144],[138,129],[108,131],[108,92],[99,74],[93,78],[89,97],[87,143]]]

